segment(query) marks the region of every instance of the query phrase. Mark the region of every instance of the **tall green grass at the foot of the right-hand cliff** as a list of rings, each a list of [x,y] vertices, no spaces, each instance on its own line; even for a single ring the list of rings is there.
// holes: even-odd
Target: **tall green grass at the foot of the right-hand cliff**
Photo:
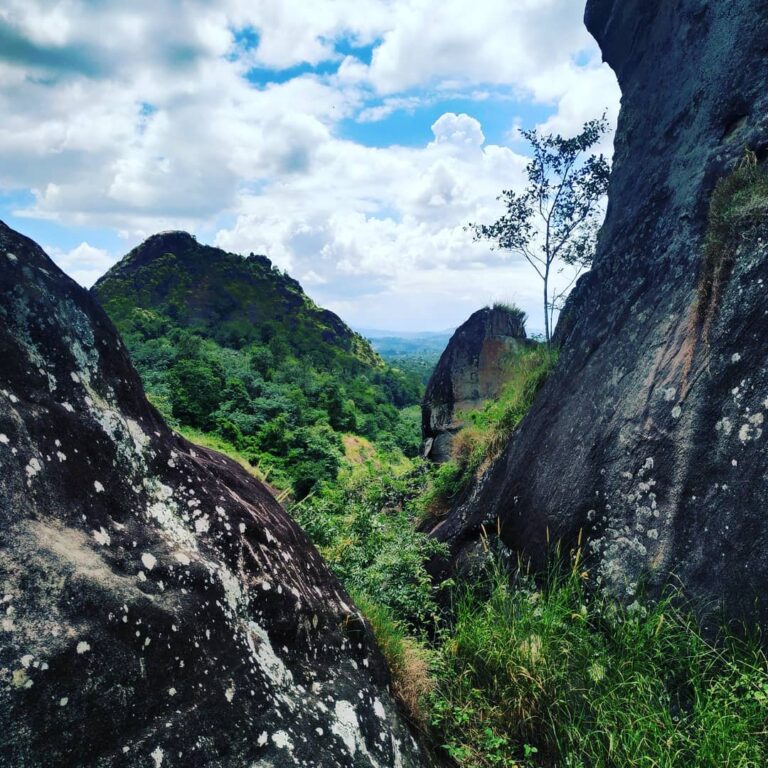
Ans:
[[[702,637],[678,595],[628,607],[578,567],[541,583],[501,564],[457,598],[431,717],[459,766],[768,764],[768,662]]]

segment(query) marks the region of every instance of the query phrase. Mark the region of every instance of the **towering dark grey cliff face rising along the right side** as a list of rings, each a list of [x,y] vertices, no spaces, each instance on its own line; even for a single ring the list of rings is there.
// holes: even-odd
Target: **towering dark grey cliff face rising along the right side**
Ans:
[[[591,0],[586,21],[623,93],[594,269],[560,321],[556,372],[438,535],[461,548],[500,518],[541,562],[547,529],[583,530],[616,591],[672,572],[754,616],[768,580],[764,202],[727,244],[706,323],[697,287],[717,180],[768,147],[768,3]]]

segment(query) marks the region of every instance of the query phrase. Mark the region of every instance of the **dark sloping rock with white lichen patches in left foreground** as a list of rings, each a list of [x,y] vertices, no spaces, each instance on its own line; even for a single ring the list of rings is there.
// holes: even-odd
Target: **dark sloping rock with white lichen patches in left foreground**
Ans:
[[[0,764],[422,764],[316,550],[3,224],[0,360]]]

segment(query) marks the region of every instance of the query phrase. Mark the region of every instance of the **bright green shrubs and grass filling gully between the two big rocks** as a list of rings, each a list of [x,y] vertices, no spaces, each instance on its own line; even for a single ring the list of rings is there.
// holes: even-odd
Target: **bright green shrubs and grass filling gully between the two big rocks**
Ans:
[[[493,454],[520,422],[552,365],[544,349],[520,353],[501,399],[475,415],[471,456]],[[377,452],[292,510],[427,740],[460,768],[768,764],[768,660],[756,639],[706,639],[679,594],[621,605],[580,555],[556,551],[530,574],[488,542],[469,586],[434,584],[425,560],[444,552],[414,524],[463,482],[458,461]]]

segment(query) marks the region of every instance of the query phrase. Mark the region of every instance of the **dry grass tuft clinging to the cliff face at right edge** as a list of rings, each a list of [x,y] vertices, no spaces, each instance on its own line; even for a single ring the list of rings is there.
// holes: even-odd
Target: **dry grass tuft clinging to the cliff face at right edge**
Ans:
[[[744,238],[765,221],[766,213],[768,171],[758,165],[753,152],[747,152],[736,168],[718,181],[710,200],[696,302],[696,319],[705,341],[736,251]]]

